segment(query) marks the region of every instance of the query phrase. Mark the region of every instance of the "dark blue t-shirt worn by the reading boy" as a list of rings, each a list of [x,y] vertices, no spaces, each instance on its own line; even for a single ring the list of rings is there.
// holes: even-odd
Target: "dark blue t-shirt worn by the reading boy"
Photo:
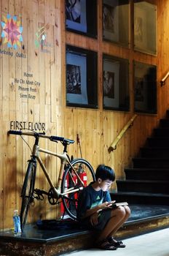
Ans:
[[[100,205],[104,202],[110,202],[111,196],[109,191],[103,192],[103,190],[95,191],[92,184],[85,187],[79,195],[77,206],[77,219],[81,220],[84,217],[86,211],[90,208]]]

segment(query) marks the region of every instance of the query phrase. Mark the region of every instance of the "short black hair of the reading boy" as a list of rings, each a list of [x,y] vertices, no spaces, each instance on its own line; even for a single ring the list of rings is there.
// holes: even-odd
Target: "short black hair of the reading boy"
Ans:
[[[106,179],[109,179],[110,181],[115,180],[115,173],[114,170],[106,165],[98,165],[96,171],[95,171],[95,179],[96,181],[98,178],[101,178],[102,181],[105,181]]]

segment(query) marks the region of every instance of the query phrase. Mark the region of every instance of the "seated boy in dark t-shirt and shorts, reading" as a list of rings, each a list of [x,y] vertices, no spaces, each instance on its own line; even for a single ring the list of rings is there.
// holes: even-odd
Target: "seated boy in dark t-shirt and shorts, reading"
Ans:
[[[98,248],[114,250],[125,247],[122,241],[113,238],[114,233],[130,216],[128,206],[111,208],[114,201],[111,201],[108,190],[115,180],[114,170],[106,165],[99,165],[95,179],[96,181],[85,187],[79,195],[77,219],[90,229],[101,230],[96,241]]]

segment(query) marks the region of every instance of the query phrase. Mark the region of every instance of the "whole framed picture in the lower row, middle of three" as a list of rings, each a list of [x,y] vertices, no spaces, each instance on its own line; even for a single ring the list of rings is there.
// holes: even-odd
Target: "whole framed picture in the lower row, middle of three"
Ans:
[[[130,110],[128,59],[103,54],[103,109]]]

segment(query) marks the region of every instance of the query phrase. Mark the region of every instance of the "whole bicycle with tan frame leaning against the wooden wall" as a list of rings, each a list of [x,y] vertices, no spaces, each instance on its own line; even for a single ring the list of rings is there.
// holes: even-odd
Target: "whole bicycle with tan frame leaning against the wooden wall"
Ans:
[[[58,136],[47,136],[41,132],[22,132],[16,130],[9,130],[9,135],[23,135],[34,136],[34,146],[31,149],[31,159],[28,159],[28,168],[25,173],[23,181],[23,188],[21,191],[22,203],[20,210],[20,224],[23,230],[28,216],[28,209],[34,199],[44,200],[44,195],[47,195],[48,201],[51,205],[57,205],[63,202],[64,214],[67,212],[68,216],[76,220],[76,206],[79,192],[86,187],[91,181],[95,181],[95,173],[93,167],[85,159],[77,158],[71,161],[67,154],[68,145],[74,143],[74,140],[66,139]],[[39,147],[39,139],[47,138],[52,142],[63,144],[63,153],[49,151],[45,148]],[[40,152],[50,154],[60,158],[60,171],[56,185],[53,184],[52,179],[47,172],[47,168],[42,162]],[[50,189],[48,192],[42,189],[35,189],[36,181],[36,167],[39,163],[46,176]],[[61,199],[61,200],[60,200]],[[63,215],[64,215],[63,214]]]

